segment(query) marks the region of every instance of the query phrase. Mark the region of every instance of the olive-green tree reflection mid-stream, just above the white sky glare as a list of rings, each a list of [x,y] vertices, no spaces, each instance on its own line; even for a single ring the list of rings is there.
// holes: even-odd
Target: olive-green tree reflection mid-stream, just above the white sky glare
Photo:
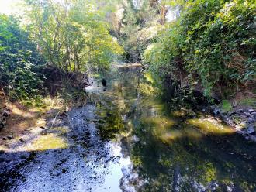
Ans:
[[[125,75],[124,75],[125,73]],[[109,91],[98,103],[99,113],[104,123],[99,123],[99,131],[104,139],[113,139],[116,134],[126,132],[126,118],[133,116],[137,110],[138,101],[133,98],[140,97],[140,82],[143,70],[140,67],[119,70],[111,80]],[[129,131],[127,131],[129,132]]]

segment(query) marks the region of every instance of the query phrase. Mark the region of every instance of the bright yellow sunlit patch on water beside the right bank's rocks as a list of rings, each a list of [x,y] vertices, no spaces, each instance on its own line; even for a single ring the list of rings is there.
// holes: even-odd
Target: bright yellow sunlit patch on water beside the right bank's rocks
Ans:
[[[213,118],[194,118],[186,121],[190,125],[195,125],[205,134],[226,134],[233,133],[234,129]]]

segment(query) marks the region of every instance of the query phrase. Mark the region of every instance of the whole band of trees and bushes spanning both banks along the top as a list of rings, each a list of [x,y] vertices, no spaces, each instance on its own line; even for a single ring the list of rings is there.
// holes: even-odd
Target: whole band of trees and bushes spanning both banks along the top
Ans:
[[[38,92],[44,63],[105,70],[123,50],[126,62],[143,60],[154,74],[206,95],[254,87],[254,0],[24,2],[23,26],[0,18],[0,78],[12,94]],[[168,22],[174,10],[178,19]]]

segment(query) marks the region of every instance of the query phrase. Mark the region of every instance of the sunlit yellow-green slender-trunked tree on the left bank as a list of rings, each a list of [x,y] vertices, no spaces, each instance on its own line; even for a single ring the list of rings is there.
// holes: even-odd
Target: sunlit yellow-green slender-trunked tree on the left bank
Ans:
[[[26,1],[29,31],[47,61],[66,71],[108,67],[122,48],[93,1]]]

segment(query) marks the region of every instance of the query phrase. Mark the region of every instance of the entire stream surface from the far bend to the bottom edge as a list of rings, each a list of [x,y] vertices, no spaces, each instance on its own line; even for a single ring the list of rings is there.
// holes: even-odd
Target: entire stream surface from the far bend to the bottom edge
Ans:
[[[113,67],[90,101],[1,155],[0,191],[255,191],[256,145],[161,101],[150,74]]]

